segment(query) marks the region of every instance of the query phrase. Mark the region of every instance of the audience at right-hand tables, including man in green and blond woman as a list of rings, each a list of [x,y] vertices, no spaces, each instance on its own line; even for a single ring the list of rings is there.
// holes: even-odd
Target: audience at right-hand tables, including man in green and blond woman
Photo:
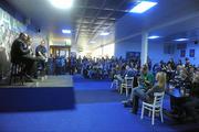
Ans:
[[[127,68],[126,72],[128,70]],[[189,98],[179,106],[178,110],[184,119],[186,119],[185,117],[191,117],[193,121],[198,121],[199,68],[192,66],[188,58],[186,58],[185,65],[175,64],[172,59],[167,64],[160,62],[159,69],[154,73],[148,70],[147,65],[143,65],[138,73],[140,74],[132,75],[134,78],[137,78],[138,84],[134,84],[129,99],[123,101],[125,107],[132,107],[133,113],[136,114],[138,111],[139,99],[146,102],[153,102],[155,92],[163,92],[169,85],[172,85],[175,88],[189,89]],[[116,79],[123,82],[124,76],[122,79],[119,77],[116,77]]]

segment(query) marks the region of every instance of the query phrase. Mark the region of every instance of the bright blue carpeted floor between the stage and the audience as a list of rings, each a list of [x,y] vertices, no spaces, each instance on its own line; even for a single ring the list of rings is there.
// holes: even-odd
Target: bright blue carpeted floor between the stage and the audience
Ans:
[[[125,97],[112,91],[109,81],[84,80],[74,77],[75,109],[0,113],[0,132],[176,132],[197,127],[177,124],[166,116],[165,123],[157,118],[153,127],[150,118],[140,120],[140,110],[135,116],[121,105]]]

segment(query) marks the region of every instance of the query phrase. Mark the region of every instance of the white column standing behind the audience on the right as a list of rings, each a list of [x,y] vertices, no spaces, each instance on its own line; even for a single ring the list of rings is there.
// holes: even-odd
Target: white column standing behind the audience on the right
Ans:
[[[148,33],[144,32],[142,35],[142,55],[140,55],[142,65],[147,63],[147,55],[148,55]]]

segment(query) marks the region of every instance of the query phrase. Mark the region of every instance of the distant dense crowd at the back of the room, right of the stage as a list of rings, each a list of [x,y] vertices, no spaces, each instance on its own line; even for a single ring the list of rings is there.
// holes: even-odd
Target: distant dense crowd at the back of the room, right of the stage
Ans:
[[[91,79],[104,79],[111,78],[114,79],[115,75],[124,76],[126,70],[126,65],[135,67],[137,70],[139,67],[139,62],[133,59],[124,58],[77,58],[76,65],[74,66],[77,69],[77,73],[81,73],[85,78]]]

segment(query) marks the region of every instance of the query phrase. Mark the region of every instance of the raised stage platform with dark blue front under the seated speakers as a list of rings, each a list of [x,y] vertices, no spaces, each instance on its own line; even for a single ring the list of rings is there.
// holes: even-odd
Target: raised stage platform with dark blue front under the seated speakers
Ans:
[[[0,88],[0,112],[72,110],[75,108],[73,77],[49,76],[24,86]]]

